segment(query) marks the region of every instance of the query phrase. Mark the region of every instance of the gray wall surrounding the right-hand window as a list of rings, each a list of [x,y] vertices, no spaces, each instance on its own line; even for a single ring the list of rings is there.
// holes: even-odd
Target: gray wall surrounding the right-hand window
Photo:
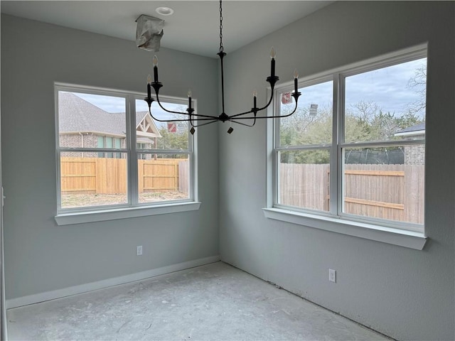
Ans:
[[[220,126],[222,260],[406,340],[454,340],[454,6],[339,1],[226,57],[228,113],[264,101],[269,49],[277,75],[301,76],[429,43],[423,251],[267,220],[266,123]],[[263,103],[263,102],[260,102]],[[328,268],[338,283],[328,281]]]

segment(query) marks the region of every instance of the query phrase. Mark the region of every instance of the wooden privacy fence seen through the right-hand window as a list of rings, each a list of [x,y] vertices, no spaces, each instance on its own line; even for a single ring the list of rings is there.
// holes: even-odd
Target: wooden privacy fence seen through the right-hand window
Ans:
[[[281,163],[279,202],[327,211],[329,165]],[[344,171],[344,211],[402,222],[424,222],[423,165],[348,164]]]

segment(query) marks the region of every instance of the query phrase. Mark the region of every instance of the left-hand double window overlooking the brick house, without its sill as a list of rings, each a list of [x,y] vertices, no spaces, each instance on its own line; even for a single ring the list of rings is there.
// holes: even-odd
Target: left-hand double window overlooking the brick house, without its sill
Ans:
[[[188,124],[155,121],[140,94],[55,85],[55,97],[59,215],[195,201]],[[151,111],[175,118],[156,102]]]

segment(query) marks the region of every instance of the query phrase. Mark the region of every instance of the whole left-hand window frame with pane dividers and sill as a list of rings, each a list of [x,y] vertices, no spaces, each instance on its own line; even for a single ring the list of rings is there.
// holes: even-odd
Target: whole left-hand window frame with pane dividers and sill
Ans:
[[[125,146],[122,148],[73,148],[60,147],[59,134],[59,108],[58,108],[58,93],[77,92],[85,94],[96,94],[103,96],[122,97],[125,100],[125,124],[126,137]],[[99,222],[105,220],[117,220],[128,217],[143,217],[148,215],[161,215],[173,212],[186,212],[190,210],[198,210],[200,202],[198,202],[197,191],[197,137],[189,133],[188,125],[188,149],[171,150],[171,149],[139,149],[137,148],[136,134],[136,101],[143,100],[145,94],[138,92],[129,92],[122,90],[112,90],[100,87],[90,87],[82,85],[72,85],[68,83],[54,83],[54,99],[55,99],[55,156],[56,156],[56,183],[57,183],[57,215],[55,221],[59,225],[79,224],[85,222]],[[178,97],[170,97],[161,95],[162,102],[171,102],[176,104],[187,104],[187,100]],[[197,107],[197,100],[193,99],[194,107]],[[114,143],[114,138],[112,137]],[[104,137],[104,145],[105,137]],[[113,145],[114,147],[114,145]],[[90,207],[61,207],[61,177],[60,177],[60,154],[65,152],[96,152],[98,155],[103,153],[112,153],[112,156],[123,153],[127,159],[127,202],[117,205],[98,205]],[[179,200],[167,200],[160,202],[139,202],[138,193],[138,165],[137,161],[141,153],[185,153],[188,154],[189,162],[189,183],[188,183],[188,198]]]

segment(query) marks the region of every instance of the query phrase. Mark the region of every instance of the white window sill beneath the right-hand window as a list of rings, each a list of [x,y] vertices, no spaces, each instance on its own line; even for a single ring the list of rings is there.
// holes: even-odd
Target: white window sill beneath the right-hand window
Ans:
[[[347,234],[348,236],[375,240],[377,242],[398,245],[410,249],[422,250],[427,237],[419,232],[405,231],[391,227],[381,227],[361,222],[321,217],[301,212],[282,210],[278,208],[264,208],[264,215],[269,219],[291,222],[294,224],[323,229],[325,231]]]

